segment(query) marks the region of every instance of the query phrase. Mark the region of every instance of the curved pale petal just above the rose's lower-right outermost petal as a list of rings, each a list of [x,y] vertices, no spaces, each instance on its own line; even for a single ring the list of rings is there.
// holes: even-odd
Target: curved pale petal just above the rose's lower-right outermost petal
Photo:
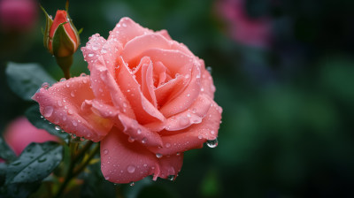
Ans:
[[[171,118],[167,118],[164,123],[155,122],[145,125],[146,128],[154,132],[162,130],[178,131],[185,129],[193,124],[199,124],[205,117],[209,108],[211,107],[212,100],[207,95],[199,95],[190,107]]]

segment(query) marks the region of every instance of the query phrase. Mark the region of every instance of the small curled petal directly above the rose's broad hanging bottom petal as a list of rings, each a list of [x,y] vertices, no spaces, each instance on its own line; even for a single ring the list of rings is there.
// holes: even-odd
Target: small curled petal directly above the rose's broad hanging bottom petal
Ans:
[[[118,116],[121,121],[123,128],[123,133],[129,135],[131,140],[141,142],[145,146],[162,146],[161,137],[158,133],[152,132],[139,125],[135,119],[127,118],[123,114]]]

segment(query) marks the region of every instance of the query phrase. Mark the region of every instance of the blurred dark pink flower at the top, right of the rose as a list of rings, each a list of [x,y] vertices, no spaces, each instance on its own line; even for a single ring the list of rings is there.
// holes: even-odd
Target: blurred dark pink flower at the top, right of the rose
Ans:
[[[217,11],[227,20],[229,34],[244,45],[266,48],[271,42],[272,25],[270,19],[251,19],[245,11],[244,0],[219,0]]]

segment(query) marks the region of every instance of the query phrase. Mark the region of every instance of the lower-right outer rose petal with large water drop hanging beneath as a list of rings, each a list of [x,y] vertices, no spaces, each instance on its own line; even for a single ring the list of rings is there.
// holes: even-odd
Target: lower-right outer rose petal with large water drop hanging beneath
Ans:
[[[207,115],[199,125],[179,131],[172,135],[163,135],[163,148],[150,147],[151,152],[162,155],[174,155],[193,148],[202,148],[206,140],[214,140],[218,137],[219,122],[222,109],[213,102]]]

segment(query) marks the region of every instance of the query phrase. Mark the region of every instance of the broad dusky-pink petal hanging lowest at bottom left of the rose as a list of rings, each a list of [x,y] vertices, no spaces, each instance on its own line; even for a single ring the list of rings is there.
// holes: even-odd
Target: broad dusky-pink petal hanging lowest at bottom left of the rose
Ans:
[[[104,178],[114,183],[143,179],[158,170],[157,157],[117,128],[101,141],[101,170]]]

